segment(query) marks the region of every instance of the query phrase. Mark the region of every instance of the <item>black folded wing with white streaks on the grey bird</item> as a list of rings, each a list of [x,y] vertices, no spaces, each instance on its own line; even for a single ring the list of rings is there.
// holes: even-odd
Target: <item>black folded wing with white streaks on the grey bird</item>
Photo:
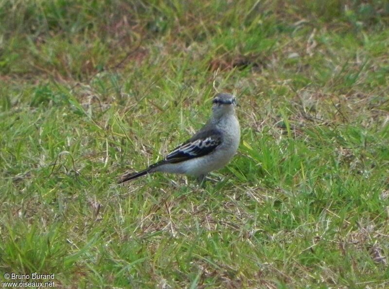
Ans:
[[[175,148],[162,162],[178,163],[195,157],[204,156],[212,153],[221,142],[222,135],[218,130],[212,129],[200,131]]]

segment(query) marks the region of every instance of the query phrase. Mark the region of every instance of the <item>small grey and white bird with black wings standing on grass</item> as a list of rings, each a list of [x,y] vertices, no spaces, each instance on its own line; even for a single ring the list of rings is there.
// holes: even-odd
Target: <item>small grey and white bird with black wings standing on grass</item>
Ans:
[[[156,171],[193,176],[202,183],[207,173],[226,166],[240,142],[235,97],[229,93],[219,93],[212,103],[211,119],[194,136],[147,169],[124,174],[118,183]]]

